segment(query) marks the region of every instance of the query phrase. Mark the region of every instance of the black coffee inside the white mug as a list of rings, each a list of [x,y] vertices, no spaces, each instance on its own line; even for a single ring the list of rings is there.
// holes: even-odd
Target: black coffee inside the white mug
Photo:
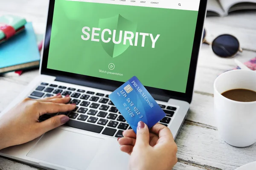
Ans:
[[[221,94],[228,99],[235,100],[238,102],[254,102],[256,101],[256,92],[247,89],[233,89],[225,91]]]

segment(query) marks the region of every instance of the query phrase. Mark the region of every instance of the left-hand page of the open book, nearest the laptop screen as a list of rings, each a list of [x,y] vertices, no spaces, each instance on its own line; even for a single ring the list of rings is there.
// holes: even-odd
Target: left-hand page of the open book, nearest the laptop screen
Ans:
[[[224,15],[224,10],[222,9],[218,0],[208,0],[207,2],[207,15]]]

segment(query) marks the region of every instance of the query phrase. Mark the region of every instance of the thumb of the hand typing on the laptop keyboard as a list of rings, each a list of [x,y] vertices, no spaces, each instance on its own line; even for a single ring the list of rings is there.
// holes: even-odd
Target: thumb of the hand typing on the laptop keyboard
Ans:
[[[61,125],[64,125],[69,120],[68,116],[58,115],[50,119],[45,120],[44,122],[38,123],[38,131],[41,134],[48,132],[49,130],[55,129]]]

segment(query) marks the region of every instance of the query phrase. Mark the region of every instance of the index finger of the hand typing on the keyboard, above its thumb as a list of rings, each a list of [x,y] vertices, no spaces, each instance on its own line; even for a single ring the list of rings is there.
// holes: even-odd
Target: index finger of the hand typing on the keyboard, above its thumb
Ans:
[[[52,102],[37,102],[40,116],[45,113],[58,113],[73,111],[76,108],[76,104],[59,104]]]

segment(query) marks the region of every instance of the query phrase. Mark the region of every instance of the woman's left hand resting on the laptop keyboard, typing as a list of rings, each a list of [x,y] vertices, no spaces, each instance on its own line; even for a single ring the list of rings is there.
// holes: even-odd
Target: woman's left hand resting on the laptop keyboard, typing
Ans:
[[[76,105],[64,104],[69,101],[69,96],[62,98],[60,94],[45,99],[24,99],[0,118],[0,150],[29,142],[65,124],[69,120],[65,115],[44,122],[39,122],[38,118],[45,113],[72,111]]]

